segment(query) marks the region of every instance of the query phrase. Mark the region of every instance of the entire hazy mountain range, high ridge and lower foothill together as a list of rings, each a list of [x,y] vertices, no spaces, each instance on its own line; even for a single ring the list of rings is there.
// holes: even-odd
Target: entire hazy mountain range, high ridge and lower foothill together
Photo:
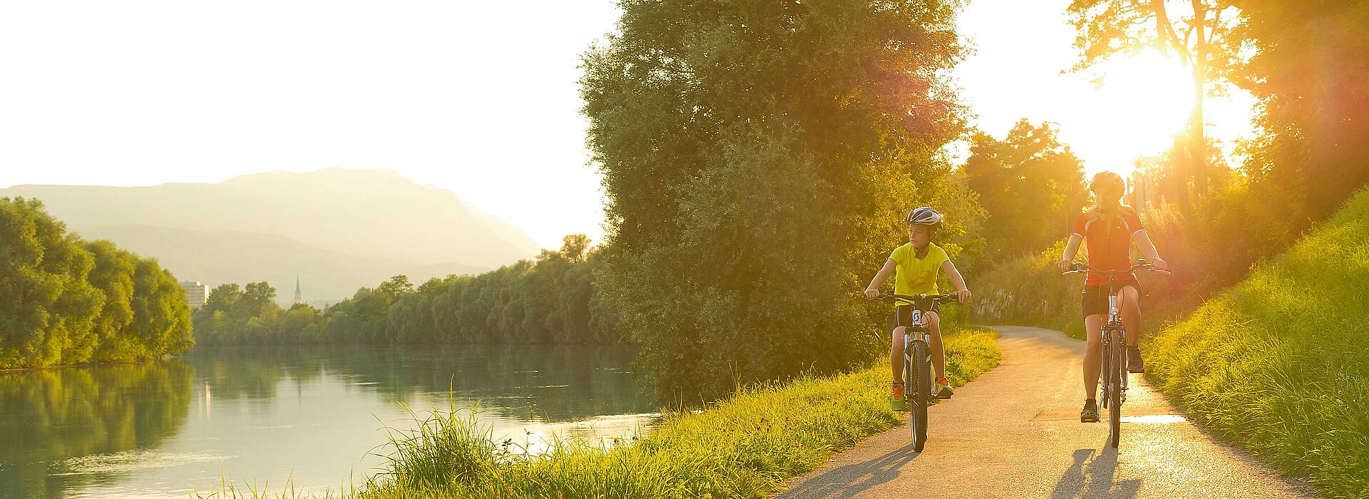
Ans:
[[[541,247],[455,193],[390,170],[327,168],[148,187],[0,189],[29,197],[86,239],[156,257],[178,279],[209,286],[267,280],[282,301],[300,275],[307,299],[350,297],[404,273],[419,283],[475,273]]]

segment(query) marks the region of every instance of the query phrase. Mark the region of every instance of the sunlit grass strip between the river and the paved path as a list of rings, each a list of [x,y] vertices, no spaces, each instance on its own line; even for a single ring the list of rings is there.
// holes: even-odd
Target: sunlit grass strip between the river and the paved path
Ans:
[[[947,370],[961,386],[998,365],[998,335],[946,335]],[[520,454],[471,410],[416,414],[392,432],[392,462],[355,498],[764,498],[784,478],[899,424],[888,409],[888,365],[741,390],[702,410],[667,414],[616,446],[560,442]],[[248,491],[220,496],[286,496]],[[297,495],[296,495],[297,496]]]

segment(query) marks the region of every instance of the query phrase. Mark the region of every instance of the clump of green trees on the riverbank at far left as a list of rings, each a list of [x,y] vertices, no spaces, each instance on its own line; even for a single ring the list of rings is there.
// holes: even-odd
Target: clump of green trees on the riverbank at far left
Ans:
[[[156,358],[193,345],[170,272],[68,234],[38,200],[0,198],[0,369]]]

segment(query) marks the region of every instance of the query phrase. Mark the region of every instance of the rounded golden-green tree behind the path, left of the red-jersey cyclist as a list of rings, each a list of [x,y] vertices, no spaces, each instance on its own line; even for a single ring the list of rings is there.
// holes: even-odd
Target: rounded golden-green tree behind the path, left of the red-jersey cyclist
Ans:
[[[979,195],[987,257],[1035,252],[1060,238],[1084,205],[1084,164],[1050,123],[1017,122],[1008,137],[975,134],[965,180]]]

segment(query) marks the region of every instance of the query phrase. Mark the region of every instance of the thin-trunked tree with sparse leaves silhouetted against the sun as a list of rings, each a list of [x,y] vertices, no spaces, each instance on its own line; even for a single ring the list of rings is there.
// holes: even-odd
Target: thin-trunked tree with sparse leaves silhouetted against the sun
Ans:
[[[1203,134],[1203,98],[1209,83],[1223,81],[1236,66],[1239,25],[1231,0],[1073,0],[1066,10],[1079,30],[1075,46],[1080,60],[1075,71],[1086,70],[1117,55],[1134,55],[1146,48],[1173,51],[1192,72],[1194,107],[1187,137],[1177,148],[1198,195],[1207,193],[1207,139]],[[1186,182],[1187,183],[1187,182]],[[1180,204],[1188,209],[1187,189]]]

